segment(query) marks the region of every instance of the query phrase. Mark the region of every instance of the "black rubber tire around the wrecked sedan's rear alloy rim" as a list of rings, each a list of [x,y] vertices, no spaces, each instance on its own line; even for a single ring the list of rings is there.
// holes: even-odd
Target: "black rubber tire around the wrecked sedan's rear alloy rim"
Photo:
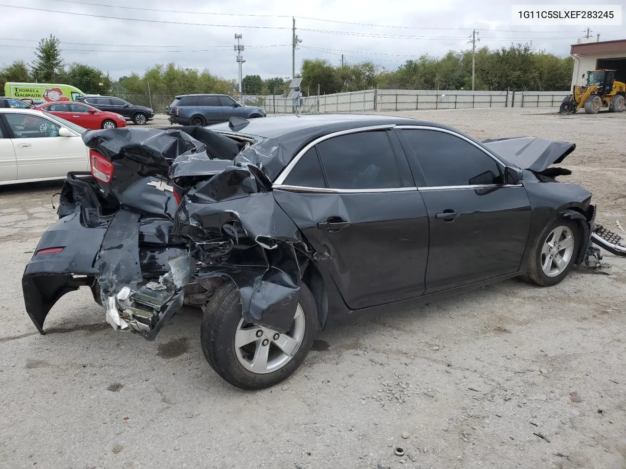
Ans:
[[[277,385],[302,364],[316,335],[317,309],[309,288],[300,283],[299,304],[304,313],[304,336],[287,363],[270,373],[254,373],[240,363],[235,352],[235,331],[242,320],[241,296],[232,282],[215,290],[203,307],[200,344],[208,364],[233,386],[259,390]]]

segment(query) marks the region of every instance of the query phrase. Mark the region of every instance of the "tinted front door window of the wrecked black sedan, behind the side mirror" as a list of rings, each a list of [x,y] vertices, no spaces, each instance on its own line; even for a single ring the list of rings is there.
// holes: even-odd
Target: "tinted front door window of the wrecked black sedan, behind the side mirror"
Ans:
[[[418,157],[427,186],[500,184],[493,158],[463,139],[434,130],[403,130]]]

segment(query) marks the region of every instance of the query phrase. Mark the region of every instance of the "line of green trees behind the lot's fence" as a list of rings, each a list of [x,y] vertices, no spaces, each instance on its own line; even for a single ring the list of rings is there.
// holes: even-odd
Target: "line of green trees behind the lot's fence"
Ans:
[[[175,96],[190,93],[235,94],[239,84],[207,69],[183,68],[174,63],[157,64],[143,74],[132,73],[112,81],[108,74],[87,64],[64,64],[59,39],[39,41],[34,61],[16,61],[0,69],[0,89],[6,81],[38,81],[76,86],[85,93],[120,96]],[[428,55],[406,61],[396,69],[385,69],[371,62],[334,66],[322,59],[304,59],[298,75],[305,96],[358,91],[361,89],[471,89],[471,52],[449,51],[442,58]],[[545,91],[570,89],[573,59],[558,58],[535,51],[530,44],[516,44],[491,50],[481,48],[475,56],[475,89],[501,91],[526,88]],[[289,91],[287,78],[262,79],[247,75],[243,91],[252,94],[283,94]]]

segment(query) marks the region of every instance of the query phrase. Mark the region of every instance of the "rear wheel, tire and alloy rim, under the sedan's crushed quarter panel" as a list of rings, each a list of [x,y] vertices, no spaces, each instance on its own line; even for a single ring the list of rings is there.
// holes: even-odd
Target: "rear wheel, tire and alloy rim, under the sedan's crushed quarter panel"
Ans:
[[[316,334],[316,303],[303,284],[294,319],[284,333],[242,318],[239,289],[230,282],[213,293],[203,310],[204,355],[218,375],[242,389],[268,388],[287,378],[304,361]]]

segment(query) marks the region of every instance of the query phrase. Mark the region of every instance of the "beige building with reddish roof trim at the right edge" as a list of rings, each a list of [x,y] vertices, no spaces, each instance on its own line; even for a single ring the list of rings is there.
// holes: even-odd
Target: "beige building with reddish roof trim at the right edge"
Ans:
[[[617,70],[615,79],[626,83],[626,39],[620,41],[593,41],[579,39],[572,45],[574,58],[572,87],[585,83],[587,72],[598,69]]]

